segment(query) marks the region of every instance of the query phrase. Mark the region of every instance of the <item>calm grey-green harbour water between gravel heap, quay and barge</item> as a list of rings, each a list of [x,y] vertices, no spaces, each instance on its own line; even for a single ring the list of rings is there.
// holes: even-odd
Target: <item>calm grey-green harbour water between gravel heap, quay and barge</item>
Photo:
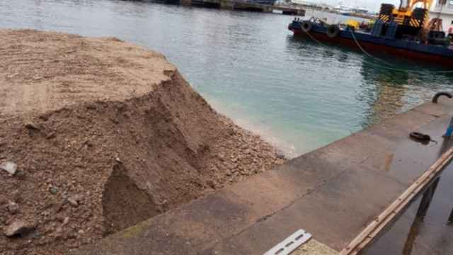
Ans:
[[[359,52],[295,39],[291,20],[147,2],[0,0],[0,28],[115,36],[163,52],[217,111],[290,156],[452,89],[453,77],[392,72]]]

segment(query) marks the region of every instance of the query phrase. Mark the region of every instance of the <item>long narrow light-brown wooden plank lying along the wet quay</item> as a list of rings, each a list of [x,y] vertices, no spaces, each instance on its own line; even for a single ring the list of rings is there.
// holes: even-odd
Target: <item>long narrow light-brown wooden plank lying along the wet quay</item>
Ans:
[[[382,212],[378,217],[376,217],[365,229],[355,237],[355,239],[348,244],[342,251],[340,251],[340,255],[350,255],[350,254],[357,254],[359,251],[365,248],[369,242],[376,237],[379,232],[384,229],[386,225],[388,225],[394,217],[401,212],[408,203],[415,198],[415,196],[420,193],[420,191],[428,186],[428,184],[432,181],[432,179],[437,176],[437,174],[442,171],[442,169],[448,164],[450,160],[453,158],[453,148],[449,149],[445,154],[442,154],[440,159],[432,164],[430,169],[425,171],[406,191],[401,194],[396,200],[394,200],[391,205],[389,205],[384,212]]]

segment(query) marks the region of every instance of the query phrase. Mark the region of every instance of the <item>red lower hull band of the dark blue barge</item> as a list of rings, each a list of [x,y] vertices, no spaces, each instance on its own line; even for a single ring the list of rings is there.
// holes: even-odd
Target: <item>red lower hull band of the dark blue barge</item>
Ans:
[[[294,35],[301,35],[306,38],[309,38],[308,35],[306,35],[305,32],[302,30],[292,30]],[[336,38],[330,38],[324,33],[310,33],[311,36],[313,36],[316,40],[319,40],[321,42],[332,42],[334,44],[340,44],[340,45],[345,45],[345,46],[350,46],[350,47],[355,47],[358,49],[357,44],[355,43],[354,40],[351,40],[349,38],[342,38],[340,36],[337,36]],[[403,50],[403,49],[398,49],[396,47],[390,47],[386,45],[377,45],[374,43],[369,43],[369,42],[360,42],[360,46],[364,48],[367,51],[374,51],[374,52],[386,52],[387,54],[391,55],[398,55],[401,57],[406,57],[410,58],[413,60],[419,60],[420,62],[430,62],[430,63],[436,63],[440,64],[444,67],[453,67],[453,59],[451,57],[442,57],[439,55],[431,55],[423,52],[415,52],[411,50]]]

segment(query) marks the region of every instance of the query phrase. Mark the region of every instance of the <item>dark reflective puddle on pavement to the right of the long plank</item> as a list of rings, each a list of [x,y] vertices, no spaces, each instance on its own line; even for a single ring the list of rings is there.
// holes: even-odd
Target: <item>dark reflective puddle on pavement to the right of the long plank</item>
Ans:
[[[423,220],[417,217],[423,215],[418,213],[423,208],[422,194],[364,254],[453,254],[453,225],[448,224],[453,210],[452,183],[453,164],[449,164],[440,175]]]

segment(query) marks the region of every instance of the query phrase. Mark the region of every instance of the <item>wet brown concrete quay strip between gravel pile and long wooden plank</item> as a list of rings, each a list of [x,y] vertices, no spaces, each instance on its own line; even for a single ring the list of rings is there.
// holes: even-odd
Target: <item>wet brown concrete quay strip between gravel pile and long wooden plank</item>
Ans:
[[[450,147],[452,113],[425,103],[73,254],[263,254],[301,228],[340,251]]]

